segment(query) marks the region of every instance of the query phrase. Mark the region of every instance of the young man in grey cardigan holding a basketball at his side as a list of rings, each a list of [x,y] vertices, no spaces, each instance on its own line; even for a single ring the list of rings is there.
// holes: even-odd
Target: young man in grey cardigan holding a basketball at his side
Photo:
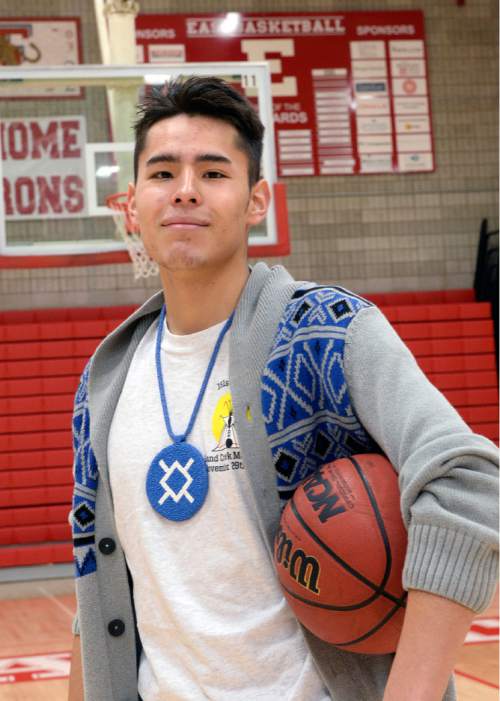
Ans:
[[[72,701],[82,676],[87,701],[449,701],[494,590],[494,446],[373,305],[249,270],[262,134],[214,78],[166,85],[136,124],[129,211],[163,289],[103,341],[76,396]],[[302,629],[272,560],[299,481],[373,450],[399,472],[409,535],[395,657]]]

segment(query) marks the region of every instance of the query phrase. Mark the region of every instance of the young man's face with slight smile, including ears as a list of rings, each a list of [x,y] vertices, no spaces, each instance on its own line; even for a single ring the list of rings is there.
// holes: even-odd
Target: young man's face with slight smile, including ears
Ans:
[[[129,211],[161,268],[217,271],[246,260],[248,229],[265,217],[269,188],[261,180],[249,189],[237,138],[226,122],[185,114],[149,130]]]

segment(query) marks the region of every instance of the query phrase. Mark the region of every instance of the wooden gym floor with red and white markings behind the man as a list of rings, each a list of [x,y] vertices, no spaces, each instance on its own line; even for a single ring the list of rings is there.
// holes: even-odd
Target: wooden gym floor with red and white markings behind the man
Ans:
[[[1,701],[66,701],[75,608],[71,579],[0,584]],[[498,701],[498,591],[456,672],[459,701]]]

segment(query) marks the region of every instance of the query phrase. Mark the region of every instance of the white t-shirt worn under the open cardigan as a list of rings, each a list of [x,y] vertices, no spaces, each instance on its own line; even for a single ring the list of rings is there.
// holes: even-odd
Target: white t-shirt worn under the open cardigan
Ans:
[[[189,421],[222,324],[187,336],[164,330],[162,368],[174,433]],[[108,460],[119,538],[134,581],[143,644],[143,701],[326,701],[256,525],[229,387],[226,335],[188,442],[206,458],[209,490],[192,518],[150,505],[146,474],[171,443],[155,368],[157,323],[129,368]]]

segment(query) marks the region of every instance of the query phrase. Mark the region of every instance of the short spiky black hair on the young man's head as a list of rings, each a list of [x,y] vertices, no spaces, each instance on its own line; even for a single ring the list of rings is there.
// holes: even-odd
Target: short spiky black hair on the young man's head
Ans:
[[[135,180],[148,131],[156,122],[179,114],[212,117],[231,124],[238,133],[238,147],[248,157],[250,187],[260,179],[264,125],[251,103],[221,78],[191,76],[185,79],[180,76],[167,81],[161,88],[153,88],[137,108],[134,124]]]

